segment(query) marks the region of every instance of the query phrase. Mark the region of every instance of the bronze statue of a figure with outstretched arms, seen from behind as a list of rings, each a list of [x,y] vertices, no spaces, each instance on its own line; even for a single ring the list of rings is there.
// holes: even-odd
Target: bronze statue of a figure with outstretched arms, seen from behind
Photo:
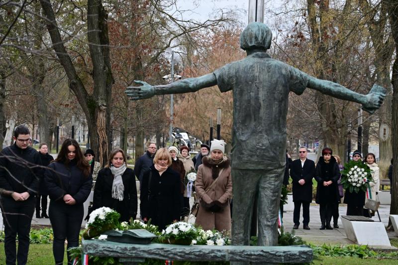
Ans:
[[[258,202],[258,245],[278,242],[278,209],[285,172],[286,116],[289,92],[305,88],[362,104],[370,113],[380,108],[386,90],[375,85],[362,95],[339,84],[316,79],[281,61],[270,58],[272,39],[267,25],[253,22],[240,35],[243,60],[227,64],[211,74],[187,78],[168,85],[128,87],[132,100],[159,94],[195,92],[218,85],[221,92],[233,90],[232,244],[249,245],[252,205]]]

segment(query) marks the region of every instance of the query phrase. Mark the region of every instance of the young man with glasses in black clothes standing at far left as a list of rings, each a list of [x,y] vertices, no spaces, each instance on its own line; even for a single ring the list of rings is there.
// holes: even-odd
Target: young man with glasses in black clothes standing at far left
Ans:
[[[14,145],[0,153],[1,212],[4,218],[5,264],[25,265],[29,251],[30,224],[38,180],[42,177],[39,153],[30,147],[30,132],[24,125],[14,130]],[[18,235],[18,252],[15,239]]]

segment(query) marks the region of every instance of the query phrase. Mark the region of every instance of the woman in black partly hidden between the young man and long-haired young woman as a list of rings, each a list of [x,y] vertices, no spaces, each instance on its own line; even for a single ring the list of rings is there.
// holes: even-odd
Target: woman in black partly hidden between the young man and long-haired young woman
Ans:
[[[54,160],[53,156],[48,153],[46,143],[39,144],[39,156],[41,165],[47,167],[50,162]],[[36,195],[36,218],[48,218],[47,215],[47,188],[44,183],[44,176],[39,180],[39,192]],[[40,198],[41,197],[41,198]],[[41,202],[41,215],[40,215],[40,202]]]

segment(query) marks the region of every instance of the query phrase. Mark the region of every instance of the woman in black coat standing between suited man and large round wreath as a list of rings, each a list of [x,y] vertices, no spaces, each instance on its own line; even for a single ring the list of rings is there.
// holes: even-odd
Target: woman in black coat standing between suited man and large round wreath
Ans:
[[[330,221],[333,209],[340,199],[337,184],[339,177],[340,169],[336,159],[332,156],[332,149],[323,148],[322,156],[315,168],[315,180],[318,182],[315,202],[319,204],[320,230],[333,229],[330,226]]]

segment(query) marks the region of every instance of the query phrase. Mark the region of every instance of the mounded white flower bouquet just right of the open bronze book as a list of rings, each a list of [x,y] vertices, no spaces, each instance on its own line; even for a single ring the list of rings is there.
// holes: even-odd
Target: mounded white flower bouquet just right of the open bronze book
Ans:
[[[162,231],[162,241],[176,245],[191,245],[199,236],[198,229],[190,223],[176,222]]]

